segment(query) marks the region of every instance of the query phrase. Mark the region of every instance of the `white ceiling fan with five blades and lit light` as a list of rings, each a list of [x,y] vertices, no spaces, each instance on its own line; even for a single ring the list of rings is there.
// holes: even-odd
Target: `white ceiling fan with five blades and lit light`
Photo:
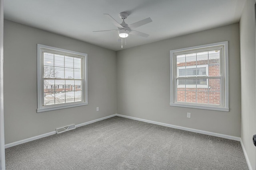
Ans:
[[[146,18],[144,20],[140,20],[138,22],[135,22],[135,23],[132,23],[132,24],[128,25],[124,21],[128,17],[127,12],[120,12],[120,14],[119,14],[120,18],[123,20],[122,23],[118,23],[118,21],[116,21],[109,14],[103,14],[103,15],[107,16],[110,19],[110,21],[114,25],[116,25],[116,27],[118,27],[118,29],[102,30],[102,31],[118,31],[118,35],[119,35],[118,41],[122,41],[122,38],[128,37],[129,34],[138,35],[138,36],[141,36],[141,37],[148,37],[149,36],[146,33],[135,31],[133,29],[152,22],[151,18]],[[93,32],[101,32],[101,31],[93,31]]]

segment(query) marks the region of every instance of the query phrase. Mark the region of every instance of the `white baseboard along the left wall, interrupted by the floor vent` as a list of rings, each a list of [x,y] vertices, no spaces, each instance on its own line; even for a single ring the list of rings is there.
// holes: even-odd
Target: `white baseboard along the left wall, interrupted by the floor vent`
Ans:
[[[84,126],[84,125],[88,125],[90,123],[94,123],[96,121],[101,121],[101,120],[104,120],[104,119],[108,119],[108,118],[114,117],[114,116],[116,116],[116,114],[110,115],[110,116],[106,116],[106,117],[102,117],[100,119],[95,119],[95,120],[92,120],[92,121],[88,121],[88,122],[85,122],[85,123],[81,123],[81,124],[76,125],[76,127],[81,127],[81,126]],[[10,148],[10,147],[13,147],[13,146],[16,146],[16,145],[20,145],[22,143],[34,141],[36,139],[40,139],[42,137],[47,137],[47,136],[54,135],[54,134],[56,134],[56,131],[52,131],[52,132],[45,133],[45,134],[42,134],[42,135],[38,135],[38,136],[35,136],[35,137],[30,137],[30,138],[23,139],[23,140],[20,140],[20,141],[16,141],[16,142],[13,142],[13,143],[8,143],[8,144],[4,145],[4,147],[5,148]]]

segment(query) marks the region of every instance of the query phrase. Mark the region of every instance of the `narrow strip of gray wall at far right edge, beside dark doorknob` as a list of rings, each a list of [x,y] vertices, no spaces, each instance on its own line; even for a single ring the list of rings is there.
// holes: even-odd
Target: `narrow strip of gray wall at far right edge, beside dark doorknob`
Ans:
[[[247,0],[240,20],[241,62],[241,140],[253,169],[256,169],[256,149],[252,136],[256,133],[256,60],[255,60],[255,0]]]

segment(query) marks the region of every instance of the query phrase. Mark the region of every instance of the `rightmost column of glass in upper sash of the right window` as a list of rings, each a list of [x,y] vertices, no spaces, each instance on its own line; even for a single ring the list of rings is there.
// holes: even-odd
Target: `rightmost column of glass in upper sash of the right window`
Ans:
[[[209,51],[209,76],[220,76],[220,51]]]

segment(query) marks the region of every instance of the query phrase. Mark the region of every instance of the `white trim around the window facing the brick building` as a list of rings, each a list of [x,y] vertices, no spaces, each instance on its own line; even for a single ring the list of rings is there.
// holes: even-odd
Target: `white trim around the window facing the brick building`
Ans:
[[[222,67],[220,74],[224,75],[224,80],[221,80],[221,100],[224,102],[222,106],[214,106],[214,105],[207,105],[207,104],[195,104],[195,103],[187,103],[187,102],[175,102],[175,82],[174,82],[174,73],[176,74],[177,70],[176,67],[173,66],[174,62],[174,53],[184,53],[186,51],[203,51],[206,48],[224,46],[224,51],[222,51],[222,59],[220,59],[220,66]],[[207,109],[207,110],[216,110],[216,111],[229,111],[229,101],[228,101],[228,41],[223,41],[219,43],[212,43],[206,45],[199,45],[194,47],[187,47],[183,49],[176,49],[170,51],[170,106],[176,107],[187,107],[187,108],[195,108],[195,109]],[[224,91],[224,92],[223,92]]]

